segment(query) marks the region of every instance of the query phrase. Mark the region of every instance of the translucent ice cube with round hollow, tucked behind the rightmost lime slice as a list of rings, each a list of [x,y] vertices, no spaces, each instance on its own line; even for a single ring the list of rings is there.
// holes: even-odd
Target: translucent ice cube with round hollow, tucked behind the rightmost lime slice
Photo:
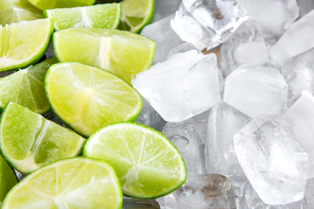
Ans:
[[[168,122],[162,132],[182,154],[188,175],[205,173],[204,143],[192,123]]]

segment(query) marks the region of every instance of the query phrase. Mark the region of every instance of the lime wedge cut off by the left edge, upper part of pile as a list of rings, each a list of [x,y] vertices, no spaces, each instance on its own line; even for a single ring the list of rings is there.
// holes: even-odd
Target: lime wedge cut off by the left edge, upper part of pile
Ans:
[[[52,18],[0,25],[0,71],[36,63],[44,55],[52,33]]]

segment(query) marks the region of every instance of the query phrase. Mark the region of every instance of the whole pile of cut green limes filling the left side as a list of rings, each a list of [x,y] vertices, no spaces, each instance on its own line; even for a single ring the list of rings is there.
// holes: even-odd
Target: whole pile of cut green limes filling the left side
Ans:
[[[185,182],[178,149],[133,122],[143,101],[130,81],[155,49],[137,33],[153,8],[154,0],[0,2],[1,208],[121,208],[122,195],[157,198]],[[49,44],[55,57],[46,58]]]

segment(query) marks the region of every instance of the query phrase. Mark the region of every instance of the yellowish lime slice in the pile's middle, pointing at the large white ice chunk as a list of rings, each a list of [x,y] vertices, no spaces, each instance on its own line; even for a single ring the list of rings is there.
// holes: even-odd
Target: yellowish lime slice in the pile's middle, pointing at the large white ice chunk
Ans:
[[[111,122],[135,120],[142,107],[140,94],[130,84],[81,63],[53,64],[45,89],[54,113],[85,136]]]

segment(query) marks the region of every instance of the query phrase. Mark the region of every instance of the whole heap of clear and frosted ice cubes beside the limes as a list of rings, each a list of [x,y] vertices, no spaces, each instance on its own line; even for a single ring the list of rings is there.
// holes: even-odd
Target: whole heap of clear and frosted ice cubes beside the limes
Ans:
[[[156,41],[153,65],[132,80],[136,121],[178,147],[188,174],[161,208],[314,208],[312,9],[155,0],[141,31]]]

